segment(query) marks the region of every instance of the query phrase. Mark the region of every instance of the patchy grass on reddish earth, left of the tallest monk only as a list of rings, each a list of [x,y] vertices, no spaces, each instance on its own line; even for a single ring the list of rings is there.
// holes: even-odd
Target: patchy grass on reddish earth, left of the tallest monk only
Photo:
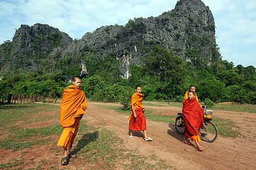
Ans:
[[[52,111],[53,106],[38,103],[17,103],[1,105],[0,108],[0,131],[5,135],[0,138],[0,147],[13,151],[25,149],[35,145],[48,144],[51,135],[62,132],[59,124],[43,128],[24,128],[31,122],[47,121],[38,111]],[[51,116],[52,117],[52,116]]]

